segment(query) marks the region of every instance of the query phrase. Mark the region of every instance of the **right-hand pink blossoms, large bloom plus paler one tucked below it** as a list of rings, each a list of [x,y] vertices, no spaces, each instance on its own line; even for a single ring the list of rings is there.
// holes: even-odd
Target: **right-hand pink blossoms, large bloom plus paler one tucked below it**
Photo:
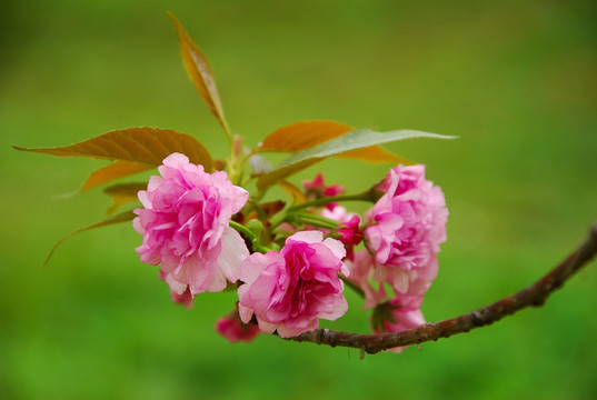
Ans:
[[[378,189],[385,194],[366,213],[366,249],[349,263],[350,280],[364,291],[365,308],[386,298],[388,283],[399,323],[411,319],[406,311],[418,311],[437,276],[448,210],[441,189],[425,179],[424,166],[396,167]]]

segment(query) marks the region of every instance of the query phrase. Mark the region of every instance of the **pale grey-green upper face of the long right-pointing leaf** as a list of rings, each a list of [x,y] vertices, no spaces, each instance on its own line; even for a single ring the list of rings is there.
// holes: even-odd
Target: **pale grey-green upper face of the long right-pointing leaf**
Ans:
[[[415,138],[452,139],[454,137],[406,129],[389,132],[376,132],[370,129],[357,129],[339,138],[328,140],[321,144],[295,153],[293,156],[283,160],[278,168],[283,168],[286,166],[295,164],[312,158],[325,159],[331,156],[346,153],[348,151],[368,148],[370,146]],[[276,172],[276,170],[272,172]]]

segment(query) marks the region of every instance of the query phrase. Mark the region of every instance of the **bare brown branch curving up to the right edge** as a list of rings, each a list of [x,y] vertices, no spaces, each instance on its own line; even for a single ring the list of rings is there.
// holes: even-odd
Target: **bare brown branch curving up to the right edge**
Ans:
[[[476,311],[440,322],[424,323],[401,332],[362,334],[319,329],[301,333],[296,338],[290,338],[290,340],[308,341],[331,347],[357,348],[361,350],[361,353],[375,354],[395,347],[418,344],[448,338],[456,333],[468,332],[471,329],[499,321],[504,317],[514,314],[524,308],[543,306],[553,291],[561,287],[576,271],[585,267],[596,253],[597,223],[593,226],[586,241],[544,278],[510,297]]]

